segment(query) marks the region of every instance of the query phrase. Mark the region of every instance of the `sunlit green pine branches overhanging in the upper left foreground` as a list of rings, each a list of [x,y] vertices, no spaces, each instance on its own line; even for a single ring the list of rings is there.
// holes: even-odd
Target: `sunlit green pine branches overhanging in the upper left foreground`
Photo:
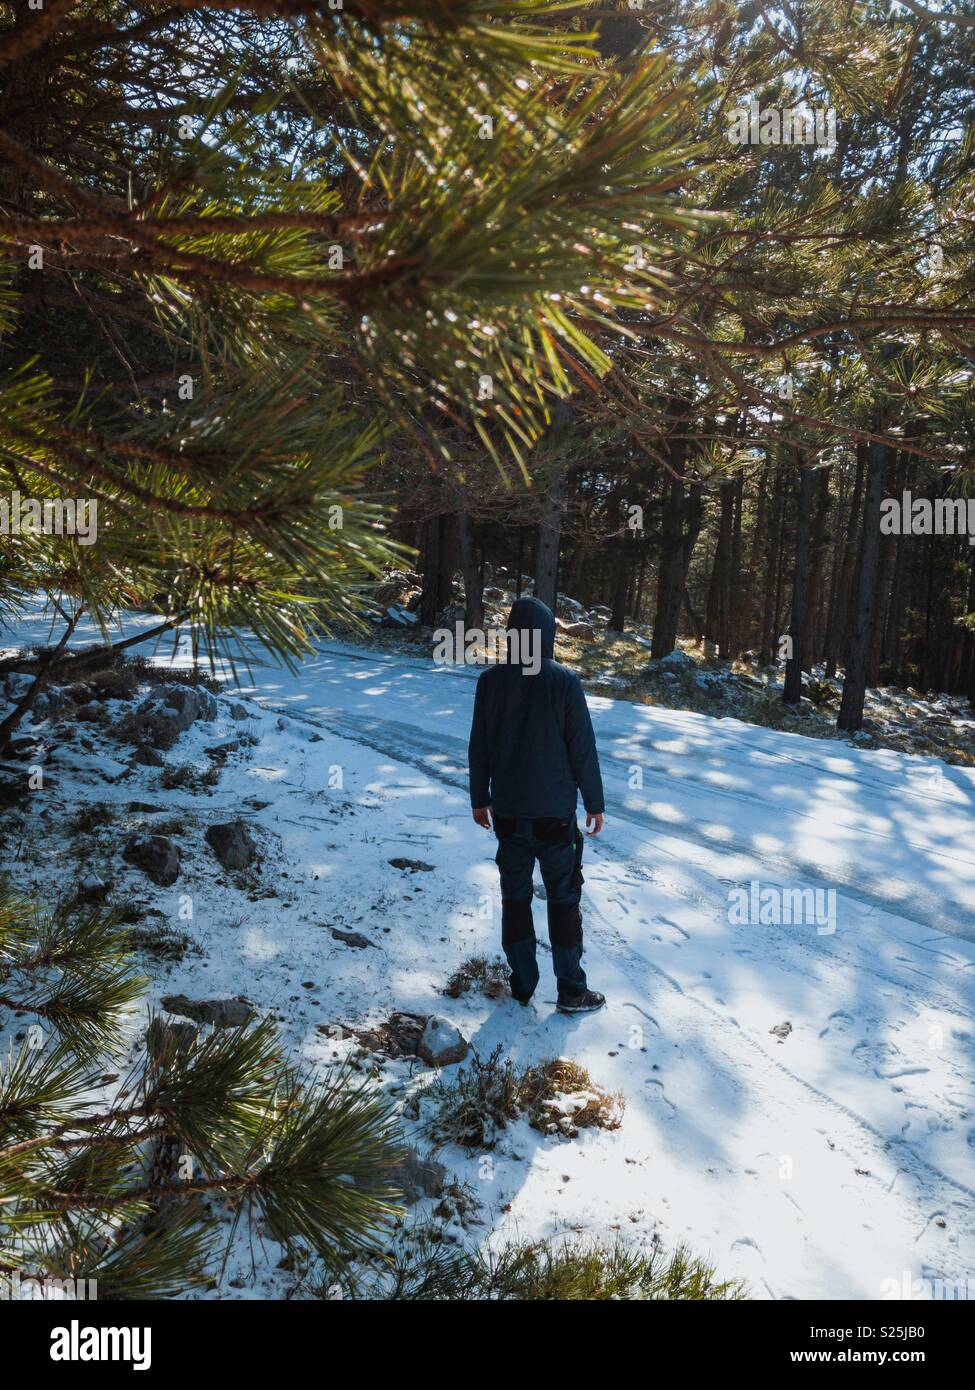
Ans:
[[[654,297],[631,228],[693,222],[690,88],[558,11],[0,8],[0,495],[97,505],[92,545],[0,535],[0,602],[296,660],[396,559],[396,442],[444,468],[456,428],[527,477]]]

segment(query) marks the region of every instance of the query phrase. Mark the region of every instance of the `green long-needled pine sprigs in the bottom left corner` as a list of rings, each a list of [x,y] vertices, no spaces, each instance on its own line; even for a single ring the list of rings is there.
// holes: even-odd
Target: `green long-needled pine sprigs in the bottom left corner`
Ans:
[[[0,1061],[0,1279],[185,1293],[217,1268],[214,1201],[231,1230],[260,1216],[327,1266],[374,1251],[395,1198],[388,1105],[341,1072],[306,1083],[271,1023],[154,1019],[111,1099],[86,1098],[111,1080],[142,986],[110,915],[0,898],[0,1008],[35,1019]]]

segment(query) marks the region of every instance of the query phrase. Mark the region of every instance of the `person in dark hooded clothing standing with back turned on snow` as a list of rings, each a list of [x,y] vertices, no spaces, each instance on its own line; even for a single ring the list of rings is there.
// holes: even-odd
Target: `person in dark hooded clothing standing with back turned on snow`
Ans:
[[[581,681],[552,660],[555,619],[538,599],[517,599],[508,619],[508,662],[477,681],[470,728],[470,805],[498,837],[501,944],[510,988],[527,1004],[538,984],[531,876],[538,860],[548,905],[552,966],[561,1013],[591,1013],[606,1002],[581,966],[583,834],[602,830],[602,778]],[[591,828],[590,828],[591,827]]]

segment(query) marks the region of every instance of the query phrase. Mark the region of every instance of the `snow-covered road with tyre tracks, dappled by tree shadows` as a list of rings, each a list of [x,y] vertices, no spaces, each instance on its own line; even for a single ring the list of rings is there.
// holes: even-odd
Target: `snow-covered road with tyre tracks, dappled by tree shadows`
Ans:
[[[250,694],[389,760],[377,767],[399,764],[401,785],[403,763],[435,780],[455,813],[476,674],[325,648],[298,680],[268,673]],[[626,1093],[627,1141],[645,1150],[636,1183],[605,1155],[587,1216],[612,1225],[636,1188],[672,1241],[676,1226],[773,1297],[876,1298],[907,1272],[964,1283],[975,777],[736,720],[590,705],[608,820],[587,849],[587,969],[611,1008],[572,1029],[570,1051]],[[449,873],[462,881],[491,848],[472,827]],[[729,891],[755,878],[835,888],[835,933],[732,924]],[[478,1051],[566,1051],[548,1008],[527,1029],[485,1019]]]

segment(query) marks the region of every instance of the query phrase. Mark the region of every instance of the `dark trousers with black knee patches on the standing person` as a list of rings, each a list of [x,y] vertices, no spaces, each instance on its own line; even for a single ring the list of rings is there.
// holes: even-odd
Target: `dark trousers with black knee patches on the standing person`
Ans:
[[[583,834],[574,816],[513,820],[495,816],[495,863],[501,870],[501,944],[510,966],[510,988],[527,1001],[538,984],[535,929],[531,917],[531,876],[538,860],[548,906],[548,938],[559,998],[586,990],[581,966],[583,924],[579,910],[583,887]]]

